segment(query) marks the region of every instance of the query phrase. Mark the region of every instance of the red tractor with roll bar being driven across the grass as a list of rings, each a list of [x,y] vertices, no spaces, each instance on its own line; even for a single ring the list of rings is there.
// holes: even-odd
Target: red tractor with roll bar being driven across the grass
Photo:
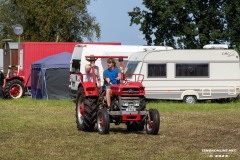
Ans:
[[[123,58],[127,56],[86,56],[92,66],[98,58],[118,58],[123,67]],[[129,131],[143,131],[146,124],[147,134],[158,134],[160,115],[156,109],[146,109],[145,88],[142,85],[144,75],[131,74],[134,81],[121,80],[120,84],[111,85],[111,108],[107,109],[105,91],[96,86],[94,67],[93,82],[84,82],[85,74],[80,73],[81,86],[76,99],[76,123],[80,131],[94,131],[95,123],[99,134],[108,134],[110,123],[125,123]],[[141,78],[140,78],[141,77]],[[141,80],[140,80],[141,79]]]

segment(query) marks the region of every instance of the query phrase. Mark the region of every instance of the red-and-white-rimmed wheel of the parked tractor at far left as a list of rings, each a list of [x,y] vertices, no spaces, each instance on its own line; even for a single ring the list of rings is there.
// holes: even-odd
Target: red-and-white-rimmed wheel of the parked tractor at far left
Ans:
[[[24,84],[18,79],[13,79],[7,82],[4,88],[4,97],[6,98],[21,98],[24,95]]]

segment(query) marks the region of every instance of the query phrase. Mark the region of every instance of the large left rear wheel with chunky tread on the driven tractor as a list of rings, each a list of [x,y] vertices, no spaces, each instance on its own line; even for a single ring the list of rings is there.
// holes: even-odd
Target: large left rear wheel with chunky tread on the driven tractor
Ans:
[[[97,99],[86,97],[83,88],[80,88],[76,101],[76,123],[80,131],[93,131],[97,117]]]

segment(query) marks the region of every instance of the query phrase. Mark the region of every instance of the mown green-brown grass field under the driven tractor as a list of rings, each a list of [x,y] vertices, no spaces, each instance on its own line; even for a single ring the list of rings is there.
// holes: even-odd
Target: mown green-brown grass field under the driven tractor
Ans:
[[[240,159],[240,102],[147,108],[161,114],[159,135],[124,124],[99,135],[76,129],[72,100],[0,99],[0,159]]]

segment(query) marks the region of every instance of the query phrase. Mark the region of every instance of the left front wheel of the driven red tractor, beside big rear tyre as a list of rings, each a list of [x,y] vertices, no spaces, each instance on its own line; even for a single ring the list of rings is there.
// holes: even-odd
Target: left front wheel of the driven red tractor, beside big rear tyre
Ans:
[[[97,128],[99,134],[108,134],[110,129],[110,119],[106,108],[98,110]]]

